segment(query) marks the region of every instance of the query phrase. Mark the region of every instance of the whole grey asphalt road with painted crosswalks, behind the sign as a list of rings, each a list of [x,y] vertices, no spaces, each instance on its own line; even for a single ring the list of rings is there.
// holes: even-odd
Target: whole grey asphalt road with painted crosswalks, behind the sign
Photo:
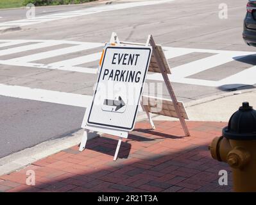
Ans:
[[[51,16],[35,21],[26,19],[24,8],[0,10],[0,30],[1,23],[13,20],[20,21],[8,25],[21,27],[0,33],[0,84],[10,85],[10,95],[1,94],[6,90],[0,86],[0,158],[80,128],[85,108],[41,102],[40,97],[31,100],[29,94],[22,95],[21,87],[92,95],[96,53],[113,31],[131,42],[146,42],[152,34],[165,47],[171,81],[183,102],[254,88],[250,68],[256,65],[256,52],[241,35],[246,2],[225,0],[228,19],[219,19],[222,0],[176,0],[126,8],[122,8],[125,1],[43,7],[36,8],[36,16]],[[89,57],[81,60],[81,56]],[[148,76],[147,82],[158,85],[167,97],[159,76]],[[9,88],[4,89],[8,93]]]

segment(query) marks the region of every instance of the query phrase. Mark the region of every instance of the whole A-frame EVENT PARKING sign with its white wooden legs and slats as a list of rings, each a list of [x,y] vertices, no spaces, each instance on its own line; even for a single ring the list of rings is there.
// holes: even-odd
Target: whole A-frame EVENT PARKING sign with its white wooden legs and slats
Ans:
[[[171,74],[169,64],[161,45],[155,44],[152,35],[149,35],[146,44],[138,44],[121,42],[117,34],[112,33],[110,42],[103,49],[99,65],[98,82],[92,104],[86,109],[81,125],[85,131],[81,138],[80,151],[85,149],[89,131],[118,136],[115,161],[122,139],[128,138],[128,132],[133,130],[140,104],[148,116],[152,129],[155,129],[155,126],[150,113],[157,113],[178,118],[185,136],[190,135],[185,122],[185,119],[188,119],[185,107],[183,102],[177,101],[167,75]],[[162,74],[171,100],[142,95],[148,71]],[[114,92],[112,89],[115,86],[123,86],[124,89],[121,90],[124,92]],[[126,92],[127,87],[133,92]],[[149,104],[143,103],[145,99]],[[156,100],[162,101],[160,110],[154,109]]]

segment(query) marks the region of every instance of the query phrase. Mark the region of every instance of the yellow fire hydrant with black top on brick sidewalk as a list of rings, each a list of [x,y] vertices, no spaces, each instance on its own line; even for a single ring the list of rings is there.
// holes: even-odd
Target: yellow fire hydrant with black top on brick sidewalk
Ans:
[[[256,110],[243,102],[209,146],[212,158],[232,167],[235,192],[256,192]]]

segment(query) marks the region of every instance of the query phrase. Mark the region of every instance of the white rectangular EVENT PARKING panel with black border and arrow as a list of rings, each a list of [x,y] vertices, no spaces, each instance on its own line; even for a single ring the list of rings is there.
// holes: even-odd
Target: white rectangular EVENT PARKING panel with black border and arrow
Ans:
[[[107,46],[87,124],[131,131],[151,58],[149,46]]]

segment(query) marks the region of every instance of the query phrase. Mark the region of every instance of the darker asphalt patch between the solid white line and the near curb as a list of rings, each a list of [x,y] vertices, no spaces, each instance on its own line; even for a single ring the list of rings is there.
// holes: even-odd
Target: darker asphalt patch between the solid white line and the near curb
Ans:
[[[73,106],[4,96],[1,96],[0,106],[0,158],[38,142],[78,131],[85,111]]]

